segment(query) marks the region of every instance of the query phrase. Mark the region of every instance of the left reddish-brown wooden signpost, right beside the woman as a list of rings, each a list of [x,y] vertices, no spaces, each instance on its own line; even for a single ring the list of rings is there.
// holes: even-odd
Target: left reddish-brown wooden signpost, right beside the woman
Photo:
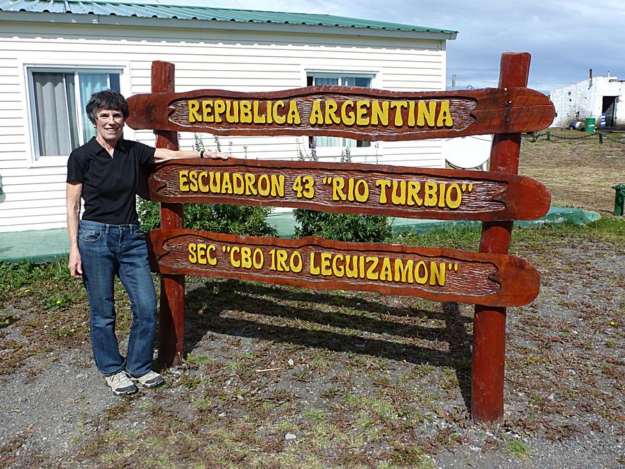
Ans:
[[[174,64],[156,60],[152,63],[152,92],[174,91]],[[156,147],[178,149],[176,131],[157,131]],[[161,204],[160,227],[183,227],[183,205]],[[165,366],[180,363],[184,352],[185,276],[160,277],[160,338],[158,358]]]

